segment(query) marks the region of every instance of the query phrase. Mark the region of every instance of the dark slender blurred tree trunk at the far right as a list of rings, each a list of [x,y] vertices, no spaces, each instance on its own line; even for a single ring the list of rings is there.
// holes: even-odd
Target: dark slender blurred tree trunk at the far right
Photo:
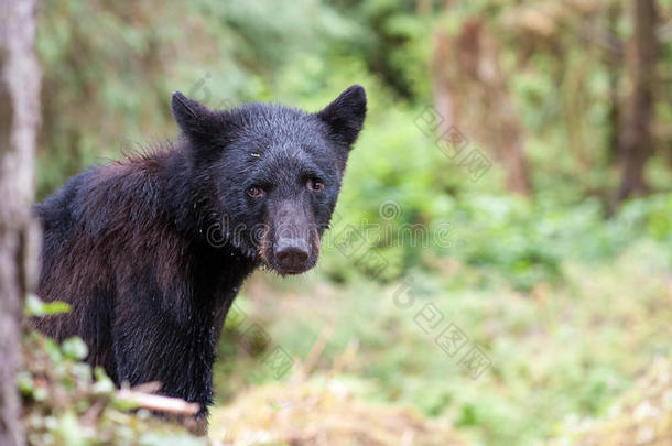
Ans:
[[[644,165],[653,153],[653,81],[658,41],[654,0],[635,0],[635,34],[627,57],[632,93],[620,138],[624,172],[617,199],[647,191]]]

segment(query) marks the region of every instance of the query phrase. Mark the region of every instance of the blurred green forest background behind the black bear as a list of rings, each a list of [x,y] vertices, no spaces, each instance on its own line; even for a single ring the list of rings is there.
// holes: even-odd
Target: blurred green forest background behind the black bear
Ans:
[[[672,444],[672,1],[51,0],[37,50],[39,199],[174,138],[173,90],[367,89],[318,266],[227,320],[213,440]]]

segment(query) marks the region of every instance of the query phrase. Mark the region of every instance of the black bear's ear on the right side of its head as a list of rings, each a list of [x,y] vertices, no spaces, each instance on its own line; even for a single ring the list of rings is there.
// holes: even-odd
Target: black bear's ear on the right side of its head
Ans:
[[[367,95],[361,85],[353,85],[317,113],[335,135],[347,145],[356,140],[367,113]]]

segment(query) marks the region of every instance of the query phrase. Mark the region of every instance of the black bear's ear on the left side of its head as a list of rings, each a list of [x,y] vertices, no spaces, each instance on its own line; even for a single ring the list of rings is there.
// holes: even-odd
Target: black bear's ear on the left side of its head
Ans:
[[[171,111],[180,129],[191,139],[206,141],[223,130],[221,117],[217,112],[180,91],[173,93]]]

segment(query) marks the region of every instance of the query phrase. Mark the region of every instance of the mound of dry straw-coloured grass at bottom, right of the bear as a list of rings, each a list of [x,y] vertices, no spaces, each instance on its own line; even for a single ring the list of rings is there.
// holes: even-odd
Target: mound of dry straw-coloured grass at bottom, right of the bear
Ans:
[[[213,413],[210,438],[225,445],[467,444],[410,409],[358,401],[335,379],[251,389]]]

